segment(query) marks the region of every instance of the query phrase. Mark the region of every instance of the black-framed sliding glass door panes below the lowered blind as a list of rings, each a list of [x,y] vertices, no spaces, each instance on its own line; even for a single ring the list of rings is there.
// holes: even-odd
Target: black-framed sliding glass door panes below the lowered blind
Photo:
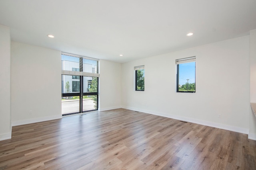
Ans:
[[[98,77],[78,77],[62,75],[62,115],[98,110]]]

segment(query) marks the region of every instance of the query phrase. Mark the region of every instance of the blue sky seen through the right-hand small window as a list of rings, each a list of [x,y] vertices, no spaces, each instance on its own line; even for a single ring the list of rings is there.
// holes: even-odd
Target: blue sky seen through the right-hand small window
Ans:
[[[196,62],[179,64],[179,85],[195,83]],[[187,81],[187,79],[189,79]]]

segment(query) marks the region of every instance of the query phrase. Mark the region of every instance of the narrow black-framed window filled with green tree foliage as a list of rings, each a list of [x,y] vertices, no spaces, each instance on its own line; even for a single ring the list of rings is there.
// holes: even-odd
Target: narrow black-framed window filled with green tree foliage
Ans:
[[[136,91],[144,91],[144,76],[145,70],[144,66],[136,66],[135,70],[135,90]]]

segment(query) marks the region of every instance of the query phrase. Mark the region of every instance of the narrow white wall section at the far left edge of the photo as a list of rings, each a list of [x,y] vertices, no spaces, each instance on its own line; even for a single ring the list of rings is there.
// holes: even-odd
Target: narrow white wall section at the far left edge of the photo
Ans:
[[[0,141],[11,138],[10,28],[0,25]]]

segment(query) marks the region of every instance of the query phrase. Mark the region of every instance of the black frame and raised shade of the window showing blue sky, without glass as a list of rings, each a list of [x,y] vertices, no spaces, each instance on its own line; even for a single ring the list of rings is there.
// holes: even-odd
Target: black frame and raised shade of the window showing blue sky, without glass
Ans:
[[[180,63],[179,63],[180,62]],[[194,91],[180,91],[179,90],[179,65],[184,63],[195,63],[195,89]],[[194,57],[188,57],[184,59],[177,59],[176,60],[176,66],[177,66],[177,74],[176,74],[176,92],[178,93],[196,93],[196,56]]]

